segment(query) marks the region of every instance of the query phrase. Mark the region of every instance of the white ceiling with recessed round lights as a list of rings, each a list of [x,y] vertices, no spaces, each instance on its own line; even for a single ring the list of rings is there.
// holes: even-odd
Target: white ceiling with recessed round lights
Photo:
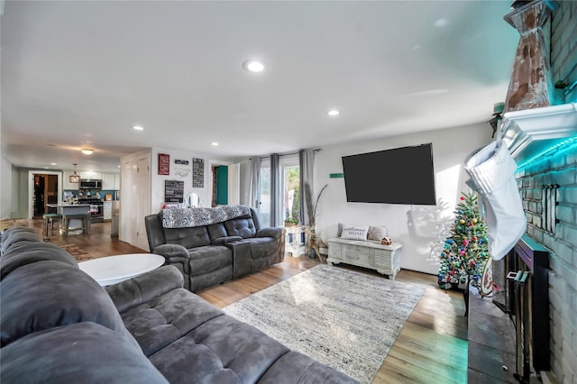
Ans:
[[[3,156],[117,171],[151,147],[234,160],[484,123],[517,49],[509,6],[5,1]]]

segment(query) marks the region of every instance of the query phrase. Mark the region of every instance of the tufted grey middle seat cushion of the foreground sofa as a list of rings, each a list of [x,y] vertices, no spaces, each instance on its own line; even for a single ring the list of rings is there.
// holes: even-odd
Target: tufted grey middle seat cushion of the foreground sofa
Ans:
[[[286,346],[251,325],[222,315],[199,325],[149,359],[171,383],[252,383],[287,352]],[[177,355],[179,359],[174,358]]]

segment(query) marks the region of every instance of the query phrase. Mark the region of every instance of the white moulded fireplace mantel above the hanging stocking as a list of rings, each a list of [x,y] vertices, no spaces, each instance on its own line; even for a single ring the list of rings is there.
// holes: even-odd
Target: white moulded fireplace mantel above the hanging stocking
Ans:
[[[500,130],[511,155],[517,157],[530,142],[577,134],[577,103],[507,112]]]

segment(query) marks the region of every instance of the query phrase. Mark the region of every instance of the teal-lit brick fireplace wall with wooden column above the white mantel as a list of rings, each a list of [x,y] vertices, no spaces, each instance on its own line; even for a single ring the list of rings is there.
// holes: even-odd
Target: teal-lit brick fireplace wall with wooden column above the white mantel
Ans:
[[[544,97],[548,97],[549,104],[554,106],[576,103],[577,2],[536,0],[516,3],[524,3],[522,6],[528,10],[527,14],[519,14],[517,10],[505,17],[508,23],[515,24],[519,32],[526,27],[517,23],[524,21],[540,30],[530,32],[527,49],[519,44],[506,108],[508,111],[540,108],[547,105]],[[552,6],[546,11],[549,19],[546,22],[540,14],[545,6]],[[538,41],[537,35],[542,41]],[[521,36],[520,41],[523,40],[522,32]],[[543,43],[543,46],[536,47],[538,43]],[[527,52],[537,52],[543,57],[533,55],[533,61],[529,63],[524,56]],[[528,64],[533,67],[529,69]],[[523,73],[528,76],[526,80]],[[560,81],[565,87],[551,86]],[[572,112],[570,120],[572,136],[577,134],[575,114],[577,110]],[[543,128],[549,128],[546,121]],[[527,217],[526,234],[549,252],[548,353],[551,372],[560,383],[577,383],[577,147],[566,146],[565,150],[562,147],[541,160],[527,161],[563,139],[553,136],[549,140],[532,142],[527,149],[518,151],[515,154],[517,164],[523,166],[517,169],[516,178]]]

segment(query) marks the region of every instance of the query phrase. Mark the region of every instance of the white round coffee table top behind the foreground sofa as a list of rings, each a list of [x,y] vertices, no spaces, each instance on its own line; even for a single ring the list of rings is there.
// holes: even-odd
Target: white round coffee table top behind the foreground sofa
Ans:
[[[160,255],[129,253],[81,261],[78,267],[105,287],[159,268],[162,264],[164,264],[164,257]]]

